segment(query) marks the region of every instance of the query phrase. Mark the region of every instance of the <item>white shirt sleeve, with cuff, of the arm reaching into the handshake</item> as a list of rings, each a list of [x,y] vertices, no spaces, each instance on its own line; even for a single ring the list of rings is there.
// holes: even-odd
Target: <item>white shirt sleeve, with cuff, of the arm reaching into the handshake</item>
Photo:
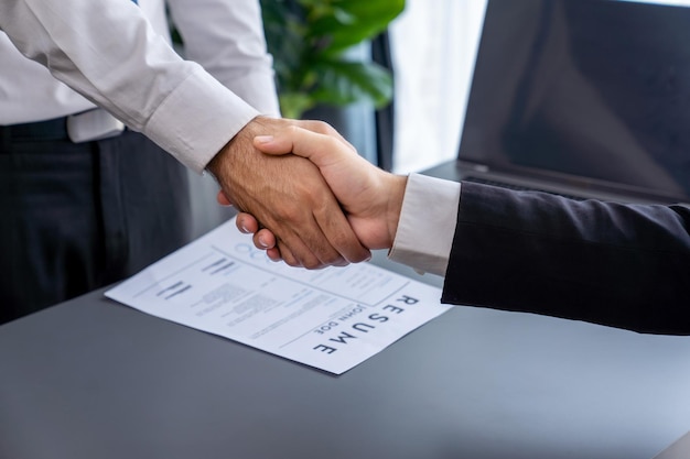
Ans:
[[[12,0],[0,29],[28,57],[196,172],[259,111],[183,61],[122,0]]]

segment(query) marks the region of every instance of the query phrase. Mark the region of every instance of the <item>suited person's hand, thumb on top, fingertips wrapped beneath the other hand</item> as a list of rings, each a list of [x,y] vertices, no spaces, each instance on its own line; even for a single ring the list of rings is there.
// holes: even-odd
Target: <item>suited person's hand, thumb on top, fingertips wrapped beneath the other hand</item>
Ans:
[[[381,171],[359,156],[352,145],[328,135],[310,132],[297,125],[287,127],[273,135],[260,135],[255,145],[270,154],[294,153],[311,160],[346,211],[355,233],[367,248],[392,245],[398,228],[407,178]],[[218,196],[224,201],[224,196]],[[268,250],[272,260],[284,258],[274,248],[273,234],[259,229],[251,215],[237,217],[238,228],[255,233],[255,244]]]

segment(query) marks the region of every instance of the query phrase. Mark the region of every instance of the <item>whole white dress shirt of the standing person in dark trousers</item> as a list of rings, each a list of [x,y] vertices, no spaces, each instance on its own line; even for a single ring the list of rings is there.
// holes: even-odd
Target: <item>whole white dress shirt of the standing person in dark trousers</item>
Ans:
[[[0,124],[96,103],[202,172],[254,117],[279,114],[258,0],[168,3],[190,61],[164,0],[0,0]]]

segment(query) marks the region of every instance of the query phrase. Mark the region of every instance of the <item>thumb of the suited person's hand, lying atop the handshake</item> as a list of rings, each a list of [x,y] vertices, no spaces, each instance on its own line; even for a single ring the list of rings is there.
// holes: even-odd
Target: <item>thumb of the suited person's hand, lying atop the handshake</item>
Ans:
[[[338,139],[291,125],[276,135],[257,135],[254,146],[273,155],[292,153],[312,161],[317,167],[337,161],[344,153]]]

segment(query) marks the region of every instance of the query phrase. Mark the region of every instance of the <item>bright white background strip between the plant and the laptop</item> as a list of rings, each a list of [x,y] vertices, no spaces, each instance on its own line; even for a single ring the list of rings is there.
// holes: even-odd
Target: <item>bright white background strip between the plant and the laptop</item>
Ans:
[[[407,0],[390,26],[393,172],[456,157],[486,0]]]

